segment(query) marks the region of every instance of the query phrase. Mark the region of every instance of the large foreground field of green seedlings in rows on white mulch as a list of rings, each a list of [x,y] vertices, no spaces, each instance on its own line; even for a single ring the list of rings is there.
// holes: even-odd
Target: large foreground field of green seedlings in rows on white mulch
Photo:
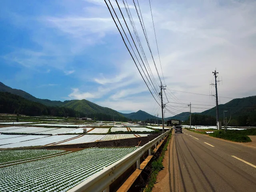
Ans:
[[[0,191],[65,192],[136,149],[89,148],[3,167]]]

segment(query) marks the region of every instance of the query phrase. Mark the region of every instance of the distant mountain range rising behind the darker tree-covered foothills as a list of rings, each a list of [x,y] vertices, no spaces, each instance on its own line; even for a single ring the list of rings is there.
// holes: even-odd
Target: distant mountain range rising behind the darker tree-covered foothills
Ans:
[[[64,102],[62,101],[52,101],[48,99],[39,99],[31,94],[24,92],[23,90],[13,89],[11,87],[6,86],[2,82],[0,82],[0,92],[10,92],[12,94],[21,96],[27,100],[38,102],[41,104],[44,104],[46,106],[61,106],[66,108],[71,108],[75,111],[82,112],[86,115],[89,114],[106,114],[109,116],[115,116],[115,118],[128,118],[132,120],[148,120],[148,119],[161,119],[156,118],[155,116],[152,116],[148,114],[147,112],[144,112],[142,110],[139,110],[137,112],[132,113],[120,113],[116,110],[113,110],[111,108],[102,107],[99,106],[93,102],[90,102],[88,100],[66,100]],[[193,105],[193,104],[192,104]],[[192,106],[193,107],[193,106]],[[239,99],[233,99],[230,102],[226,104],[219,105],[219,114],[220,116],[223,114],[224,110],[231,111],[233,116],[238,116],[241,114],[247,114],[251,111],[254,111],[256,109],[256,96],[250,96],[246,98],[239,98]],[[170,118],[172,119],[178,119],[178,120],[187,120],[189,117],[189,112],[182,112],[176,116],[165,118],[165,120],[168,120]],[[204,114],[204,115],[210,115],[210,116],[216,116],[216,107],[211,108],[209,110],[206,110],[201,113],[194,113],[194,114]]]

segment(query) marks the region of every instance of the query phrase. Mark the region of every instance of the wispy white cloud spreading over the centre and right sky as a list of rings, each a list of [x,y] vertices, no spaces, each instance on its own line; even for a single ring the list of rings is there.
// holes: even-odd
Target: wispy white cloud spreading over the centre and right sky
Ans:
[[[130,58],[104,1],[87,0],[84,3],[79,7],[80,9],[76,7],[76,4],[70,8],[70,10],[75,8],[77,12],[42,16],[38,19],[47,32],[53,30],[52,34],[63,37],[63,41],[55,42],[50,35],[47,36],[41,32],[37,36],[34,35],[33,40],[42,46],[42,50],[21,49],[8,54],[7,58],[26,67],[54,66],[69,73],[73,71],[69,69],[76,69],[74,66],[70,67],[73,58],[85,54],[85,48],[95,48],[98,57],[104,54],[102,63],[106,60],[109,70],[106,70],[104,74],[88,72],[86,75],[81,72],[82,70],[76,70],[76,73],[81,72],[76,78],[80,80],[84,78],[83,84],[88,82],[97,84],[92,89],[79,86],[72,90],[69,97],[98,99],[97,104],[116,110],[141,109],[152,112],[154,98],[147,90]],[[129,1],[129,3],[132,8],[133,2]],[[219,76],[223,76],[223,85],[218,87],[220,96],[236,98],[256,94],[254,86],[256,73],[255,1],[227,0],[202,3],[197,0],[185,0],[180,3],[174,0],[162,1],[161,4],[158,1],[151,3],[163,74],[169,88],[208,94],[209,80],[213,78],[212,71],[217,68]],[[154,60],[162,76],[148,1],[142,1],[140,9]],[[131,12],[150,68],[158,81],[136,10],[132,9]],[[126,11],[124,10],[123,13],[130,26]],[[131,27],[130,29],[132,31]],[[36,32],[38,31],[35,30]],[[48,38],[45,40],[43,36]],[[135,48],[134,50],[136,51]],[[50,63],[46,60],[46,56],[50,56]],[[87,62],[87,59],[85,57],[84,61]],[[97,64],[102,65],[100,62]],[[97,68],[90,66],[90,68],[94,67]],[[139,65],[138,67],[140,68]],[[151,87],[150,89],[152,90]],[[138,97],[142,92],[145,92],[145,96]],[[183,102],[195,100],[214,103],[206,96],[182,92],[174,92],[174,94]],[[169,100],[177,102],[171,96]],[[224,103],[228,100],[230,99],[221,98],[220,102]],[[194,108],[193,112],[203,110],[205,109]]]

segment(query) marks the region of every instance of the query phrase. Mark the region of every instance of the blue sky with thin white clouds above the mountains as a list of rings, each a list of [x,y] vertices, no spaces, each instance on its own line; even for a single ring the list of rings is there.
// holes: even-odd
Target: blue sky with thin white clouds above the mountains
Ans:
[[[154,69],[136,10],[132,1],[128,3]],[[139,3],[160,71],[149,4]],[[0,82],[37,98],[87,99],[120,112],[154,113],[156,102],[103,0],[4,0],[0,4]],[[122,1],[120,5],[125,12]],[[152,1],[152,12],[170,89],[209,94],[212,71],[217,68],[223,78],[220,96],[256,95],[255,1]],[[205,96],[173,93],[185,103],[214,103]]]

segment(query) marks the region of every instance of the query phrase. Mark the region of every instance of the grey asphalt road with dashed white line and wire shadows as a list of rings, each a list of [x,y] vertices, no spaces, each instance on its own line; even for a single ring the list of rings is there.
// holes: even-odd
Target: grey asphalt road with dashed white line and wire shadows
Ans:
[[[153,192],[256,192],[256,148],[183,132],[173,134]]]

